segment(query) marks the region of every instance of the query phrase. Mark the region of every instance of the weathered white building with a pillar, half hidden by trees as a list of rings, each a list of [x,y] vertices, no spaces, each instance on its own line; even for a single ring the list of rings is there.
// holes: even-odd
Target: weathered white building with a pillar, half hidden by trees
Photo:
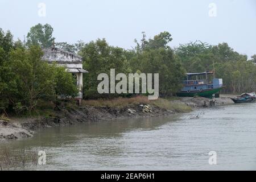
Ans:
[[[56,62],[58,65],[67,68],[68,72],[71,72],[77,78],[77,86],[79,87],[79,96],[76,97],[77,104],[82,103],[82,73],[88,73],[88,71],[82,69],[82,57],[75,53],[64,51],[63,49],[54,46],[43,50],[43,60],[48,63]]]

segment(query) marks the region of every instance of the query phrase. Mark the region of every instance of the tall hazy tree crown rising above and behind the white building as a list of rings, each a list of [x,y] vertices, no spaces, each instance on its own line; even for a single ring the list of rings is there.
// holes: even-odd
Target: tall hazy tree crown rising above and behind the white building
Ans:
[[[51,47],[55,38],[52,37],[53,28],[49,24],[36,24],[27,34],[27,45],[39,45],[41,48]]]

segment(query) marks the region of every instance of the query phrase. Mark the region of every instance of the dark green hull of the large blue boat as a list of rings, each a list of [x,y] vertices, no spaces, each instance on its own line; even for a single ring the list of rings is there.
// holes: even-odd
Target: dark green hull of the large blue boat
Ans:
[[[214,93],[219,92],[222,87],[218,87],[218,88],[213,88],[213,89],[205,89],[205,90],[195,90],[195,91],[191,91],[191,92],[179,92],[177,93],[177,96],[179,97],[195,97],[195,96],[200,96],[200,97],[207,97],[207,98],[212,98],[212,95]]]

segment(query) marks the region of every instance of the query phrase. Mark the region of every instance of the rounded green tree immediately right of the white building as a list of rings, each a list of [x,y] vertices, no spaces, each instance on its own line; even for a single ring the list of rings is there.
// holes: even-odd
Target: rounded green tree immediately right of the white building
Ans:
[[[125,51],[119,47],[109,46],[105,39],[98,39],[85,45],[81,51],[83,57],[83,68],[88,70],[84,76],[84,96],[87,98],[101,97],[97,92],[97,85],[100,81],[97,77],[100,73],[110,75],[110,69],[117,73],[127,73],[127,60]],[[109,94],[108,97],[113,97]]]

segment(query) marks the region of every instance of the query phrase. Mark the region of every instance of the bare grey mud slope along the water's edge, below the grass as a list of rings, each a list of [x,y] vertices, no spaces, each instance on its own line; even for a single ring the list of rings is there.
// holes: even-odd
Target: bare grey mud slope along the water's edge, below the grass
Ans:
[[[177,104],[185,104],[193,109],[210,107],[210,99],[204,97],[179,97]],[[229,97],[216,98],[214,105],[232,104]],[[32,137],[33,134],[47,127],[67,126],[82,122],[110,121],[130,117],[163,117],[175,113],[182,113],[180,110],[167,110],[153,105],[136,105],[123,107],[122,109],[106,106],[94,107],[83,106],[76,109],[62,109],[54,115],[41,118],[13,118],[10,121],[0,120],[0,142],[11,139],[22,139]]]

